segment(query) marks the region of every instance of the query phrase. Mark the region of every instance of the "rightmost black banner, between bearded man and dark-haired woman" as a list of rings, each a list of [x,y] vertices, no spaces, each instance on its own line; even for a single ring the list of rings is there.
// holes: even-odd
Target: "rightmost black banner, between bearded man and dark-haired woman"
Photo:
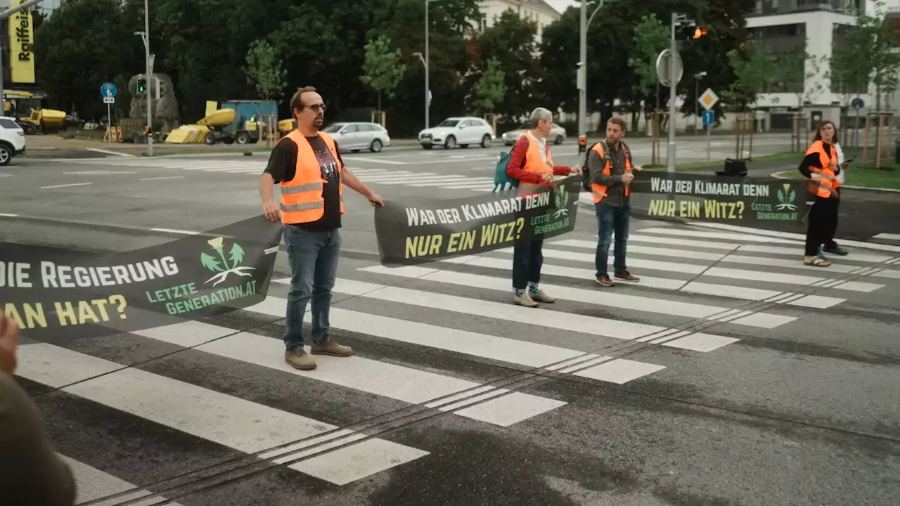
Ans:
[[[806,213],[806,186],[797,180],[642,171],[630,188],[632,213],[647,218],[772,228]]]

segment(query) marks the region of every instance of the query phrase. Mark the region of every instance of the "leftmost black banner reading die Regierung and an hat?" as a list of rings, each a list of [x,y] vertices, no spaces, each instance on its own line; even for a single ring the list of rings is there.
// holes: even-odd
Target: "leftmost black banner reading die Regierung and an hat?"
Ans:
[[[0,243],[0,311],[26,337],[65,339],[244,308],[266,297],[281,230],[258,216],[125,252]]]

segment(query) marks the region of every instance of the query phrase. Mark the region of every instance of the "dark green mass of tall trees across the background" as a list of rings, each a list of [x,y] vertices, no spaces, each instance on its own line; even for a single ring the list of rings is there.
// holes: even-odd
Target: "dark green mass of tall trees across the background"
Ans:
[[[538,47],[536,23],[511,10],[483,32],[476,30],[479,4],[428,4],[432,124],[470,113],[467,105],[492,108],[511,121],[537,105],[577,110],[578,9],[545,26]],[[589,4],[591,12],[598,5],[597,0]],[[329,104],[329,122],[368,120],[373,91],[399,97],[385,104],[389,127],[394,135],[409,135],[424,126],[425,68],[413,54],[426,51],[426,5],[422,0],[149,0],[150,45],[155,70],[175,83],[184,122],[202,117],[209,100],[277,98],[299,86],[316,86]],[[655,42],[649,42],[641,28],[649,25],[642,21],[655,16],[662,20],[656,29],[666,28],[673,9],[709,31],[705,40],[682,45],[685,76],[706,70],[707,84],[725,89],[735,79],[727,52],[745,38],[743,16],[753,6],[752,0],[607,3],[588,33],[588,111],[606,118],[614,104],[634,111],[635,104],[655,98],[651,68],[645,65],[655,63],[655,56],[646,58]],[[134,35],[144,30],[143,20],[143,2],[121,0],[67,2],[50,14],[35,35],[36,68],[48,105],[74,104],[86,117],[103,115],[98,86],[143,72],[143,45]],[[248,53],[248,48],[253,49]],[[636,64],[639,55],[643,67]],[[501,89],[498,76],[504,93],[487,94]],[[279,86],[284,83],[288,86]],[[689,98],[693,91],[693,81],[682,79],[680,95]],[[485,107],[489,95],[491,105]],[[287,117],[282,102],[281,115]]]

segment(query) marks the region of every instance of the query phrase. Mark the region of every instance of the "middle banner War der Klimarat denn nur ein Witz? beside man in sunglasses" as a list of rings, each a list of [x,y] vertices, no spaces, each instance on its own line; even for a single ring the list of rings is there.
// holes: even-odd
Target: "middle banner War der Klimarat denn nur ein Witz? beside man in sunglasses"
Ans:
[[[513,188],[453,200],[386,202],[375,209],[382,264],[433,262],[572,231],[580,177],[565,177],[540,191]]]

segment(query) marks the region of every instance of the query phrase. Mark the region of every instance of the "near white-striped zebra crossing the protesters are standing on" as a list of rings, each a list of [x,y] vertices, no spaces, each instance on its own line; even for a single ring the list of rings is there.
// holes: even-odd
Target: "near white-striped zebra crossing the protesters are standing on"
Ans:
[[[235,458],[285,465],[302,479],[345,485],[433,457],[427,439],[370,434],[357,428],[357,419],[411,410],[495,430],[540,424],[547,413],[567,409],[566,400],[509,378],[641,382],[680,361],[727,354],[743,335],[803,325],[811,317],[798,316],[797,308],[821,312],[851,294],[878,294],[900,273],[900,258],[853,249],[835,264],[845,268],[813,273],[803,266],[797,241],[653,227],[636,230],[628,243],[629,268],[641,281],[604,288],[594,283],[594,248],[593,240],[566,236],[545,242],[541,286],[557,303],[539,309],[511,303],[511,248],[409,267],[356,259],[361,263],[338,276],[330,312],[332,334],[354,339],[356,355],[316,356],[313,371],[284,363],[278,334],[290,279],[280,273],[262,303],[232,313],[275,321],[275,332],[214,320],[139,330],[130,339],[165,347],[139,366],[103,355],[105,345],[29,343],[20,349],[17,375],[55,389],[67,402],[119,413],[122,420],[111,423],[120,425],[106,437],[125,427],[137,426],[140,434],[161,428],[166,437],[195,438]],[[311,322],[309,311],[304,319]],[[648,348],[654,354],[641,353]],[[673,358],[654,364],[666,350]],[[171,361],[185,354],[193,358],[184,358],[182,371]],[[491,372],[478,372],[482,366]],[[327,392],[328,398],[292,405],[273,389],[301,397]],[[57,421],[78,430],[75,422]],[[140,425],[146,423],[152,425]],[[60,449],[80,498],[166,501],[165,486],[118,475],[113,464],[98,467],[104,460],[90,452],[105,443]],[[144,465],[156,465],[159,451],[148,452]]]

